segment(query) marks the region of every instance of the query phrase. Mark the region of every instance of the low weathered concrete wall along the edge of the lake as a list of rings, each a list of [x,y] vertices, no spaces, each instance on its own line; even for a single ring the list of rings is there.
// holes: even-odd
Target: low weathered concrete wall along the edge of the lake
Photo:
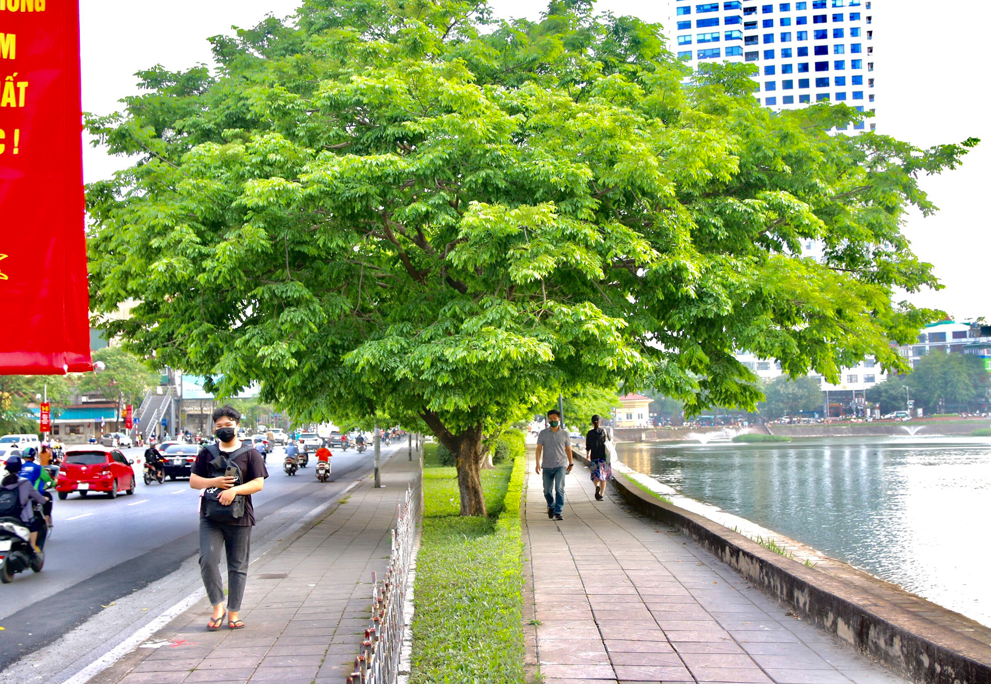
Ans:
[[[579,460],[588,459],[576,453]],[[927,684],[991,681],[991,648],[785,558],[721,525],[652,497],[613,471],[613,485],[638,513],[692,537],[755,586],[813,625],[895,672]]]

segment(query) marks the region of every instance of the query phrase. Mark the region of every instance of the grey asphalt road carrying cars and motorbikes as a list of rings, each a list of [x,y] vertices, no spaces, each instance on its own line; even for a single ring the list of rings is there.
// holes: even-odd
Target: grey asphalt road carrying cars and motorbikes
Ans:
[[[384,454],[405,443],[383,447]],[[124,449],[140,474],[144,449]],[[374,463],[372,449],[335,450],[331,482],[316,480],[313,460],[290,477],[283,450],[267,459],[270,477],[254,496],[258,526],[252,545],[334,499]],[[146,485],[110,500],[91,494],[55,500],[55,530],[45,548],[45,569],[21,573],[0,586],[0,671],[79,626],[116,599],[147,587],[198,553],[198,492],[186,480]]]

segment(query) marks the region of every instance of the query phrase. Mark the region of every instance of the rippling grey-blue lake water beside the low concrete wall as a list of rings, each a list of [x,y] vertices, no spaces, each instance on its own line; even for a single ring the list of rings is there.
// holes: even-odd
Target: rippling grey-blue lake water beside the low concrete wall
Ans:
[[[991,626],[991,440],[620,443],[631,468]]]

